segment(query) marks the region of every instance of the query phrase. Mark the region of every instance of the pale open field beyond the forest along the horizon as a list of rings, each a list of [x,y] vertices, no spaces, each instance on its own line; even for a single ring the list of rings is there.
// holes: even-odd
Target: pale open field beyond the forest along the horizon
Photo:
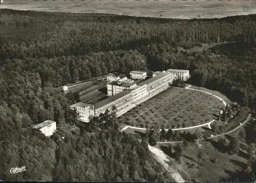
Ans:
[[[72,13],[112,13],[162,18],[221,18],[255,14],[255,1],[3,1],[1,8]]]

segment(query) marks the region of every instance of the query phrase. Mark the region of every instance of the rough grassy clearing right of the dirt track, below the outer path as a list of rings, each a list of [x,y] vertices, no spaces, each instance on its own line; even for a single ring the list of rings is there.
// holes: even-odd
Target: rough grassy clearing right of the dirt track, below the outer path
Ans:
[[[248,125],[249,124],[246,124],[240,129],[222,136],[221,138],[226,140],[226,147],[223,148],[217,145],[217,141],[220,138],[201,141],[201,148],[199,148],[196,143],[191,142],[188,143],[187,148],[181,145],[183,149],[181,168],[189,175],[191,180],[197,182],[218,182],[221,180],[236,181],[237,178],[239,178],[240,181],[248,181],[248,177],[246,177],[245,173],[246,166],[248,165],[246,159],[246,149],[248,145],[239,135],[239,132],[245,130]],[[237,154],[226,152],[231,137],[237,138],[240,142],[240,150]],[[159,146],[160,149],[172,158],[172,161],[176,165],[179,165],[179,162],[173,156],[174,154],[170,154],[167,147],[167,144]],[[202,158],[205,159],[201,166],[198,164],[199,159],[197,157],[199,150],[201,150],[203,154]],[[176,168],[178,169],[179,166]],[[184,178],[187,177],[182,171],[181,175]]]

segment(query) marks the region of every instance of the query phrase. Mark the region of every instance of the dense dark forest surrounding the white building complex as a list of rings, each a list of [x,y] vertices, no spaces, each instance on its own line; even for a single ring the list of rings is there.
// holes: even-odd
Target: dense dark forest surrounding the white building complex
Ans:
[[[1,26],[3,180],[172,181],[131,135],[68,133],[74,99],[59,86],[78,80],[188,69],[191,84],[256,109],[256,15],[180,20],[2,9]],[[48,119],[65,140],[31,131]],[[25,164],[26,172],[10,175]]]

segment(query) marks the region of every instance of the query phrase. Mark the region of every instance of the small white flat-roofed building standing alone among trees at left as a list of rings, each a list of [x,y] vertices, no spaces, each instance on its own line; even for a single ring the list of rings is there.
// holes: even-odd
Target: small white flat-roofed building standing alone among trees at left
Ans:
[[[51,136],[56,131],[56,122],[47,120],[33,126],[33,129],[39,129],[44,135]]]

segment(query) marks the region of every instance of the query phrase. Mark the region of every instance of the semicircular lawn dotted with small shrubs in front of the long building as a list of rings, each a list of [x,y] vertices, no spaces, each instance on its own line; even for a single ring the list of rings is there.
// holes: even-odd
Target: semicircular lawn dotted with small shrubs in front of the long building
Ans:
[[[166,128],[182,128],[211,121],[212,115],[223,107],[223,103],[211,95],[170,87],[124,113],[119,121],[136,127],[163,125]]]

